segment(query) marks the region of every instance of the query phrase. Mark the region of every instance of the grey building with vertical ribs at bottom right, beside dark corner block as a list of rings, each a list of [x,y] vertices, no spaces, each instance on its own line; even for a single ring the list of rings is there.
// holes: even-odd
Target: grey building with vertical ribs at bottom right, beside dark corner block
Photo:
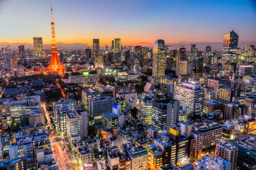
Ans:
[[[216,144],[215,157],[221,157],[222,159],[230,162],[231,170],[236,170],[236,161],[238,156],[238,147],[227,143],[226,141]]]

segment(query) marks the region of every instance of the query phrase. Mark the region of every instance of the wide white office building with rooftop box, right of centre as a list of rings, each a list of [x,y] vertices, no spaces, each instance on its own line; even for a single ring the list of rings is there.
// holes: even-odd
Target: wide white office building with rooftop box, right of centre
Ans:
[[[174,98],[180,101],[180,105],[187,109],[187,115],[200,115],[203,111],[204,90],[197,84],[183,82],[183,85],[174,86]]]

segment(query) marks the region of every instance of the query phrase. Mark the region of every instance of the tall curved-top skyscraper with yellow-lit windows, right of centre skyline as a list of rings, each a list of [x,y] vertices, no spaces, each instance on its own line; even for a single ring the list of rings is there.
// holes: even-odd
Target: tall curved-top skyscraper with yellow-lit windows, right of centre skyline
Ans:
[[[156,40],[153,50],[152,77],[163,77],[165,75],[165,44],[164,40]]]

